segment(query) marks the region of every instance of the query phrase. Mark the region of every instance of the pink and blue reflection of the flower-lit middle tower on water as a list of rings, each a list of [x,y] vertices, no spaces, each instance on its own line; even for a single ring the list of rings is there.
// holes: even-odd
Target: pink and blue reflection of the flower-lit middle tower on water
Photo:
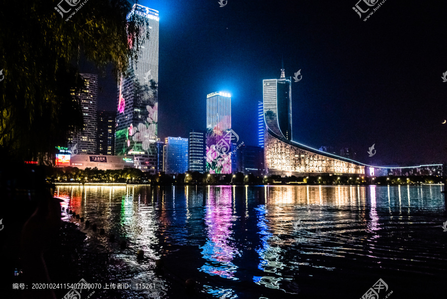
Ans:
[[[231,187],[216,187],[209,194],[205,223],[207,225],[208,239],[201,247],[205,265],[200,271],[210,275],[217,275],[231,280],[237,266],[232,263],[239,251],[231,247],[232,223]]]

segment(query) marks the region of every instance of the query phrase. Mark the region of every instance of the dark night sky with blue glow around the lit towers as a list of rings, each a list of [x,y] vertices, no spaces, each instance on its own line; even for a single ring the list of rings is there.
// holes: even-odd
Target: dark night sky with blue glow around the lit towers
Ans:
[[[234,131],[255,145],[262,80],[279,78],[284,56],[286,76],[302,75],[295,141],[377,166],[447,161],[445,1],[386,0],[367,21],[357,0],[140,3],[160,13],[160,138],[204,129],[206,95],[225,91]],[[99,83],[99,108],[115,110],[116,83]]]

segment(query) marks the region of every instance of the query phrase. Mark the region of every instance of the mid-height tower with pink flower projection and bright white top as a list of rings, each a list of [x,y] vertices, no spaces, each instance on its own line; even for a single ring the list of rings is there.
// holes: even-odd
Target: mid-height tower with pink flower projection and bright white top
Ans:
[[[231,95],[207,96],[207,172],[231,173]]]

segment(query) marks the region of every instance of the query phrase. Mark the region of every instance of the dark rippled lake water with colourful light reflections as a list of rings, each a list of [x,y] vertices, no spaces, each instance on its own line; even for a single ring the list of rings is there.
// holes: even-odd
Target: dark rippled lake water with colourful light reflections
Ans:
[[[446,296],[443,188],[58,186],[55,196],[97,224],[93,232],[64,213],[87,233],[88,247],[78,250],[110,254],[106,273],[80,262],[88,280],[107,281],[84,279],[128,283],[120,298],[362,298],[382,279],[379,298],[397,299]],[[136,288],[145,283],[154,288]]]

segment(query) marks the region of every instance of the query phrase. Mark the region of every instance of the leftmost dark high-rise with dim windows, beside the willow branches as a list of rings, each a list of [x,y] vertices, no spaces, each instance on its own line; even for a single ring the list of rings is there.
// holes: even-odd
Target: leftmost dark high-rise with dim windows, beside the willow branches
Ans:
[[[98,96],[98,75],[80,74],[84,87],[79,92],[84,128],[69,137],[68,148],[72,155],[94,154],[96,152],[96,107]],[[74,96],[74,93],[72,94]]]

